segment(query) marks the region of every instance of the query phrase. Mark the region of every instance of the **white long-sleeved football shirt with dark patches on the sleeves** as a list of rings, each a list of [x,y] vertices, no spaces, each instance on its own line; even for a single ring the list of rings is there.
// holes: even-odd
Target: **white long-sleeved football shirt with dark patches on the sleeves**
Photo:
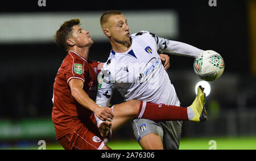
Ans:
[[[192,57],[203,52],[191,45],[163,39],[147,31],[135,33],[131,35],[129,50],[124,53],[111,50],[101,74],[98,74],[96,103],[108,106],[116,88],[125,100],[179,106],[175,88],[158,54],[162,51]]]

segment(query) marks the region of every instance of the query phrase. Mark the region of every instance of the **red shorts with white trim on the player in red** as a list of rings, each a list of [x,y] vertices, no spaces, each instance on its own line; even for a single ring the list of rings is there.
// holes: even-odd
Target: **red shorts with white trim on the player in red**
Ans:
[[[108,140],[101,136],[97,125],[89,126],[89,128],[82,125],[77,130],[60,138],[59,142],[66,150],[100,150]]]

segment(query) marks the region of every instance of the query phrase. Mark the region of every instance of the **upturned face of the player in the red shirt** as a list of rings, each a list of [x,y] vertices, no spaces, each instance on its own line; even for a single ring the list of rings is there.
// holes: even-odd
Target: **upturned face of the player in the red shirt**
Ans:
[[[80,26],[73,26],[72,39],[75,41],[76,46],[84,47],[91,46],[93,40],[90,38],[89,31],[82,29]]]

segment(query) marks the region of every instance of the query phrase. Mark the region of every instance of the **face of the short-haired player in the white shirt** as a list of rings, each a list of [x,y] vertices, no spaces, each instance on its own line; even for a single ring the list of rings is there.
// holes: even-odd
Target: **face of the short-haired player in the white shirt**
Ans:
[[[114,41],[125,44],[130,41],[129,26],[123,15],[113,15],[109,18],[109,31]]]

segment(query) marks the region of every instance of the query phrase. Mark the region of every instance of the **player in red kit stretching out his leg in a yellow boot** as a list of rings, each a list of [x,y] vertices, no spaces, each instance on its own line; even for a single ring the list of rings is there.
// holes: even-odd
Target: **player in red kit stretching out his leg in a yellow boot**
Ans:
[[[137,100],[115,105],[114,111],[113,108],[97,105],[94,102],[98,85],[97,74],[103,64],[88,60],[93,40],[89,32],[79,25],[79,19],[64,22],[55,35],[56,44],[68,52],[57,72],[52,98],[52,121],[56,139],[64,149],[110,149],[106,145],[108,138],[105,137],[110,127],[116,130],[126,121],[138,116],[156,121],[200,121],[204,113],[203,91],[197,94],[195,103],[187,108]],[[94,113],[100,120],[105,121],[100,129]],[[113,120],[114,113],[117,116]]]

